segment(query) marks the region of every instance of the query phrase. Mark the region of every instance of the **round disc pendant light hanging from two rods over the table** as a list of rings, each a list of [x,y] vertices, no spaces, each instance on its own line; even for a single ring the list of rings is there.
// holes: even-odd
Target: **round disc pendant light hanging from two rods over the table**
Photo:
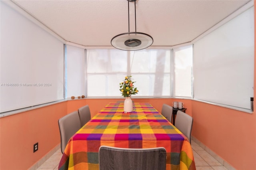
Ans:
[[[137,32],[136,30],[136,0],[127,0],[128,1],[128,32],[118,34],[114,36],[111,40],[111,45],[117,49],[125,51],[136,51],[140,49],[145,49],[152,45],[153,38],[145,33]],[[130,32],[130,12],[129,4],[134,2],[135,9],[135,32]]]

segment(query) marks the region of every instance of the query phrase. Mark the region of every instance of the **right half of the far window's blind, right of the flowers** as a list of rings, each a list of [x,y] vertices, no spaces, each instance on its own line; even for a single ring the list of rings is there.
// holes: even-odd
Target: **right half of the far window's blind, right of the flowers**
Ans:
[[[130,72],[138,96],[171,96],[171,50],[145,49],[130,53]],[[137,83],[138,82],[138,83]]]

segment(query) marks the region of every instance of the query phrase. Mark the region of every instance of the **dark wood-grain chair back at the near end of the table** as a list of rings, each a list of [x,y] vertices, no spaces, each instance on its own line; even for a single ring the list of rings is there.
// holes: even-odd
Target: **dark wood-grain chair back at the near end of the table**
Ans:
[[[166,170],[166,150],[100,146],[100,170]]]

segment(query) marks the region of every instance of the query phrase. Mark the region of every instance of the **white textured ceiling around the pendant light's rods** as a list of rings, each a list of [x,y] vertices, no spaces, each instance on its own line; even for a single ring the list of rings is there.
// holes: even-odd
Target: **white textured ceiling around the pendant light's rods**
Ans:
[[[64,40],[84,46],[111,46],[128,32],[127,0],[13,0]],[[152,46],[191,42],[244,6],[248,0],[137,0],[137,32],[153,37]],[[130,2],[130,31],[135,31]]]

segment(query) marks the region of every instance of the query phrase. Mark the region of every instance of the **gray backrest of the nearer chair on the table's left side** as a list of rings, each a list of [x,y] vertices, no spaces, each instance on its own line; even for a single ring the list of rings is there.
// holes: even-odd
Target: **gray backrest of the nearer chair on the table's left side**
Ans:
[[[60,150],[62,154],[68,140],[81,128],[78,111],[74,111],[58,120],[60,129]]]

